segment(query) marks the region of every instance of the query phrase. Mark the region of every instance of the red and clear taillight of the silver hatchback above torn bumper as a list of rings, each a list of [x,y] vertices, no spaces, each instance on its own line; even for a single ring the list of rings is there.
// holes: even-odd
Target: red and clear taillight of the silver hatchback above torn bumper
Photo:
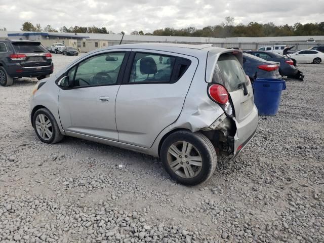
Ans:
[[[208,88],[208,94],[211,100],[217,102],[228,116],[233,116],[233,108],[229,102],[229,95],[224,86],[216,84],[211,85]]]

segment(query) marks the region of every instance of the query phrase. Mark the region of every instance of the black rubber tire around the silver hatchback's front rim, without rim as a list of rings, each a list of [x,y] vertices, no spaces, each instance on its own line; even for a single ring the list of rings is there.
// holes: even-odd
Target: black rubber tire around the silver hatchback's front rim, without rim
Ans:
[[[43,139],[38,134],[38,132],[36,130],[36,117],[39,114],[44,114],[51,121],[51,124],[52,124],[52,137],[50,139],[48,139],[48,140]],[[37,137],[43,143],[54,144],[54,143],[60,142],[64,138],[64,135],[61,134],[61,131],[60,131],[58,125],[57,125],[57,122],[56,122],[53,114],[48,109],[46,109],[46,108],[41,108],[41,109],[36,110],[36,112],[34,113],[34,115],[32,117],[32,125],[34,127],[34,130],[35,130],[35,133],[36,133]]]

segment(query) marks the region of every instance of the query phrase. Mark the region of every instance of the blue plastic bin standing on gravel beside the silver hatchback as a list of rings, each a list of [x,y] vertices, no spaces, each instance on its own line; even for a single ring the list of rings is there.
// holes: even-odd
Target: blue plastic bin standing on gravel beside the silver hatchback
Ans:
[[[275,115],[278,112],[281,92],[286,90],[282,79],[257,78],[253,83],[254,103],[259,115]]]

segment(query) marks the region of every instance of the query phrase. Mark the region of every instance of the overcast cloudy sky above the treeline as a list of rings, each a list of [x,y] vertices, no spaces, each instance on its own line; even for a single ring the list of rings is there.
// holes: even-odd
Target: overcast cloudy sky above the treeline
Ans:
[[[324,21],[324,0],[0,0],[0,28],[20,30],[29,21],[42,27],[106,27],[130,33],[224,22],[294,24]]]

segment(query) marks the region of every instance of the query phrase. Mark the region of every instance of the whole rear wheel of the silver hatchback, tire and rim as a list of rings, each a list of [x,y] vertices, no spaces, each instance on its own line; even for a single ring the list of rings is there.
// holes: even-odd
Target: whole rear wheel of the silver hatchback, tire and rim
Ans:
[[[212,142],[199,132],[178,131],[169,135],[161,146],[160,155],[169,175],[189,186],[207,181],[217,164]]]

